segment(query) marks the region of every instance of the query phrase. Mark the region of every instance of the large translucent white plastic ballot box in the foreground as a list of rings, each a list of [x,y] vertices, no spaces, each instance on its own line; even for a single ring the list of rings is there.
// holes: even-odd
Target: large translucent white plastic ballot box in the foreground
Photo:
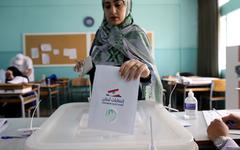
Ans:
[[[26,140],[25,150],[150,150],[151,145],[156,150],[198,149],[192,135],[162,105],[141,101],[137,107],[134,134],[123,134],[88,128],[88,103],[62,105]]]

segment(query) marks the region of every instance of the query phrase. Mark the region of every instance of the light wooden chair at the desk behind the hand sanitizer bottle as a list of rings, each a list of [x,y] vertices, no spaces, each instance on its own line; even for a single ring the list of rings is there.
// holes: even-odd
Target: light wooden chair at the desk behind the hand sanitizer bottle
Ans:
[[[212,80],[210,96],[209,96],[209,108],[212,109],[213,101],[225,101],[226,92],[226,80],[216,79]]]

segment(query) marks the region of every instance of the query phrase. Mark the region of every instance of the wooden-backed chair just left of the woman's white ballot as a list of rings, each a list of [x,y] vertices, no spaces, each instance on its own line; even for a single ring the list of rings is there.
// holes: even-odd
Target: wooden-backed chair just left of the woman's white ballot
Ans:
[[[91,93],[91,83],[89,78],[78,77],[74,78],[70,82],[70,97],[73,100],[73,97],[77,97],[77,101],[81,99],[81,101],[88,101],[88,97],[90,97]],[[85,99],[85,100],[84,100]]]

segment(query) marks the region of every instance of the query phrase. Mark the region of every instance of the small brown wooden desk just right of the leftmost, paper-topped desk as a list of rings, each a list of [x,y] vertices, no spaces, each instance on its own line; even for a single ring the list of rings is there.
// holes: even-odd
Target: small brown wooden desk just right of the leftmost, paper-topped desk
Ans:
[[[49,108],[50,111],[53,112],[53,96],[56,95],[57,99],[57,107],[60,105],[59,103],[59,84],[47,84],[41,85],[40,88],[40,99],[44,99],[46,96],[49,100]]]

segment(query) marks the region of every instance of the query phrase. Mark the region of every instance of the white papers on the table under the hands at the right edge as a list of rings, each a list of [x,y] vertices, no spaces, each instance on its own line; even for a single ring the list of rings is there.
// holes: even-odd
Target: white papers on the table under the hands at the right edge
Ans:
[[[240,111],[228,111],[228,110],[209,110],[209,111],[203,111],[203,116],[205,118],[205,121],[207,123],[207,126],[210,125],[210,123],[214,119],[221,119],[224,116],[229,115],[230,113],[235,113],[240,115]],[[240,134],[240,130],[229,130],[230,134]]]

